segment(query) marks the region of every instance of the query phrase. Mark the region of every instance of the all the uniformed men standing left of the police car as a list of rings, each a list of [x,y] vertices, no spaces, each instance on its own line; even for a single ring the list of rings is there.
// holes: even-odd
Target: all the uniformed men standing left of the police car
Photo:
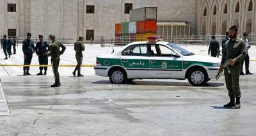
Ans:
[[[51,85],[51,87],[59,87],[61,86],[60,83],[60,75],[58,72],[58,67],[60,64],[60,56],[65,52],[66,47],[61,43],[56,41],[56,37],[51,34],[49,35],[49,43],[44,41],[44,36],[38,35],[39,42],[35,44],[33,40],[31,40],[31,33],[27,34],[26,40],[22,42],[22,52],[24,54],[24,67],[23,67],[23,75],[31,75],[29,73],[29,65],[31,64],[33,54],[36,53],[38,56],[38,61],[40,64],[39,70],[40,72],[36,75],[47,75],[47,65],[48,65],[48,57],[51,56],[51,66],[52,72],[54,73],[55,83]],[[83,62],[83,51],[84,51],[84,44],[83,44],[83,36],[79,36],[79,40],[74,43],[74,50],[76,50],[76,60],[77,66],[73,72],[73,75],[77,77],[83,77],[81,74],[81,66]],[[8,45],[8,41],[6,40],[6,36],[3,37],[3,49],[5,54],[5,46]],[[60,50],[61,49],[61,50]],[[43,73],[44,70],[44,73]]]

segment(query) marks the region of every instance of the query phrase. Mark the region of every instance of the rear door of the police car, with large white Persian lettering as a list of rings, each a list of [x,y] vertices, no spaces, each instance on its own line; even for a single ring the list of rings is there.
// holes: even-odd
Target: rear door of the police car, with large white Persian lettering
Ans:
[[[146,44],[131,45],[122,52],[121,61],[128,79],[150,77],[148,46]]]

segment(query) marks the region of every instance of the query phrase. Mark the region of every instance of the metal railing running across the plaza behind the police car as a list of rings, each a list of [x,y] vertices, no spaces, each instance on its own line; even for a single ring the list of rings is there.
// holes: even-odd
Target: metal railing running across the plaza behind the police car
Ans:
[[[100,36],[96,37],[92,42],[90,40],[85,40],[84,43],[93,43],[100,44],[102,47],[110,45],[127,45],[132,42],[147,41],[148,36],[136,36],[127,35],[127,36]],[[163,40],[166,42],[172,42],[177,45],[209,45],[211,42],[211,36],[163,36]],[[225,38],[223,35],[217,35],[216,40],[222,43],[222,39]],[[241,38],[241,35],[239,36]],[[26,36],[16,36],[17,43],[22,43],[26,39]],[[76,42],[78,37],[75,36],[65,36],[65,37],[56,37],[56,40],[68,44]],[[31,37],[31,40],[38,42],[38,37]],[[250,45],[256,45],[256,34],[251,34],[248,36]],[[48,38],[45,38],[45,41],[49,42]]]

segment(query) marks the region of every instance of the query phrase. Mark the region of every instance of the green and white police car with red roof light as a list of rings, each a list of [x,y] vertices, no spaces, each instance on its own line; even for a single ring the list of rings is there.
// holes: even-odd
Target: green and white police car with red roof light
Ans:
[[[202,86],[215,78],[220,61],[163,42],[161,36],[148,36],[147,42],[129,43],[117,52],[98,56],[94,69],[112,84],[133,79],[188,79],[191,85]]]

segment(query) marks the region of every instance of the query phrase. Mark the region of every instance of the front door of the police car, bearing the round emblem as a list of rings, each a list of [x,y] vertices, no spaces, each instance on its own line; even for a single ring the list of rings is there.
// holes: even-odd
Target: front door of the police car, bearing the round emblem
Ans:
[[[164,45],[150,45],[150,77],[182,79],[182,57]]]

